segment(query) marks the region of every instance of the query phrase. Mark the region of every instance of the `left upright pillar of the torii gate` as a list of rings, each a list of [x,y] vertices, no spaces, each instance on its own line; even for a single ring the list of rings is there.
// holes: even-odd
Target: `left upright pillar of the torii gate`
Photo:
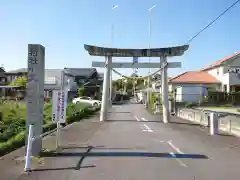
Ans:
[[[103,80],[103,93],[102,93],[102,106],[100,113],[100,121],[104,121],[108,111],[108,97],[109,97],[109,82],[110,82],[110,66],[112,62],[112,57],[105,57],[106,65],[104,71],[104,80]]]

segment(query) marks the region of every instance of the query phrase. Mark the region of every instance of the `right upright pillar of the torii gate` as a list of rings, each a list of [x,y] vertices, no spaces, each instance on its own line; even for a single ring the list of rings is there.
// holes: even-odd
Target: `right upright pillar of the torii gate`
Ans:
[[[169,121],[169,102],[168,102],[168,75],[167,75],[167,57],[160,57],[161,62],[161,90],[162,90],[162,107],[163,107],[163,122],[168,123]]]

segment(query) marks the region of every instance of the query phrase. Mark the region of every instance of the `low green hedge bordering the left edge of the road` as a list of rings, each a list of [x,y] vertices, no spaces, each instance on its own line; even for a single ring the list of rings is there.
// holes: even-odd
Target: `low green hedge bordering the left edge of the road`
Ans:
[[[85,107],[82,109],[77,107],[78,107],[77,105],[73,105],[73,104],[68,106],[67,117],[66,117],[66,121],[68,124],[80,121],[81,119],[88,117],[99,110],[99,107],[98,108]],[[45,116],[45,118],[49,118],[49,117]],[[56,128],[56,124],[53,124],[53,123],[44,124],[43,132],[47,132],[55,128]],[[23,130],[18,134],[16,134],[15,136],[8,139],[6,142],[0,143],[0,156],[3,156],[25,145],[25,134],[26,134],[26,131]]]

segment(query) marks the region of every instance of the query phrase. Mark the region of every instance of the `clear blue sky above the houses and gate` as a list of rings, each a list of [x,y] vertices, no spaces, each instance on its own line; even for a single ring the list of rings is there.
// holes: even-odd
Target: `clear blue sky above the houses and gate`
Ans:
[[[84,44],[117,48],[183,45],[235,0],[5,0],[0,2],[0,64],[6,70],[27,67],[28,44],[46,48],[45,68],[87,68],[103,57],[90,56]],[[113,5],[119,5],[112,10]],[[151,37],[149,37],[149,11]],[[198,70],[240,51],[240,3],[190,43],[182,68],[169,76]],[[114,39],[111,27],[114,24]],[[132,58],[114,58],[130,61]],[[139,62],[148,58],[140,58]],[[158,58],[152,58],[158,62]],[[156,70],[156,69],[155,69]],[[102,68],[98,68],[103,72]],[[130,75],[131,69],[118,69]],[[152,70],[154,71],[154,70]],[[139,69],[145,76],[148,69]],[[117,76],[114,76],[117,78]]]

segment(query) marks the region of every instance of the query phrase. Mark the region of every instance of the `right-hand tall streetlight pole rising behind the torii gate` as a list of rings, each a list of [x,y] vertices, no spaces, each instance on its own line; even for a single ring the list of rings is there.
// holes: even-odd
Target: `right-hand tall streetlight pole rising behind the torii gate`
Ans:
[[[151,53],[150,53],[150,49],[151,49],[151,35],[152,35],[152,23],[151,23],[151,14],[152,14],[152,10],[156,7],[157,5],[153,5],[152,7],[150,7],[148,9],[148,12],[149,12],[149,26],[148,26],[148,32],[149,32],[149,44],[148,44],[148,48],[149,48],[149,52],[148,52],[148,63],[150,64],[150,56],[151,56]],[[151,68],[148,69],[148,89],[150,89],[150,73],[151,73]],[[149,100],[150,100],[150,92],[147,91],[147,100],[148,100],[148,103],[149,103]]]

